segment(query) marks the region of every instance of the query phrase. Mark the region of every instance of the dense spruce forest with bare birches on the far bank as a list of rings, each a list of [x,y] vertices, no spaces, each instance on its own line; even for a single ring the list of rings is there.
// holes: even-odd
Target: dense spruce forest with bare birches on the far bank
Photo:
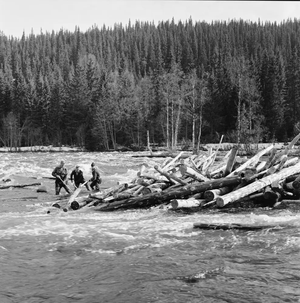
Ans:
[[[300,20],[0,32],[0,146],[174,149],[299,133]],[[0,29],[1,30],[1,29]]]

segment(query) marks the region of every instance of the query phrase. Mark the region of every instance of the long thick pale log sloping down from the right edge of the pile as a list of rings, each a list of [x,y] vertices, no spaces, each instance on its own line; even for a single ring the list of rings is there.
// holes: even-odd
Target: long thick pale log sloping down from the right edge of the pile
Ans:
[[[240,188],[236,191],[233,191],[229,194],[226,194],[222,197],[217,198],[216,204],[218,205],[218,207],[222,207],[223,205],[233,202],[239,198],[243,198],[247,195],[254,193],[255,191],[258,191],[268,185],[271,185],[271,183],[273,181],[282,180],[282,179],[288,177],[289,175],[296,174],[299,171],[300,171],[300,163],[297,163],[296,165],[288,167],[288,168],[284,168],[276,174],[264,177],[258,181],[255,181],[249,185],[246,185],[243,188]]]

